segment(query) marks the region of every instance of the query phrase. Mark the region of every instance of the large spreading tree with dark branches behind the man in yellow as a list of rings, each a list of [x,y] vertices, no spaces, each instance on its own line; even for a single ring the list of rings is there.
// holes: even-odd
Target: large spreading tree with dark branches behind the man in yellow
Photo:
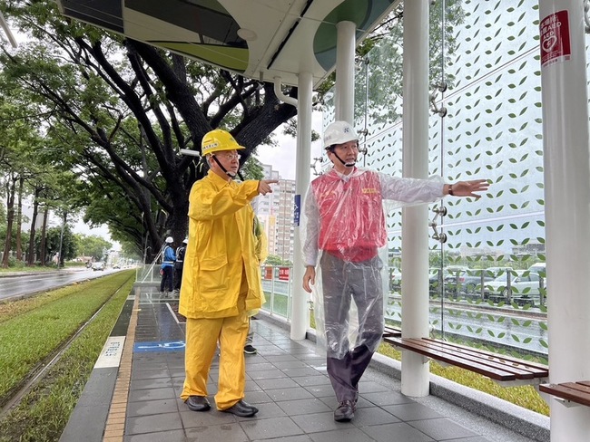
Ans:
[[[4,49],[5,91],[18,88],[44,116],[53,160],[78,174],[88,220],[153,254],[163,236],[186,235],[188,193],[202,173],[180,149],[199,151],[206,132],[223,128],[246,147],[246,161],[296,114],[271,83],[72,22],[54,2],[5,6],[29,36]]]

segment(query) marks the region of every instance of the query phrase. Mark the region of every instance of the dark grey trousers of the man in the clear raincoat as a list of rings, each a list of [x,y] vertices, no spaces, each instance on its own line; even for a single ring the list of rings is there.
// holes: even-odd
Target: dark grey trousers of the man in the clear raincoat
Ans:
[[[328,375],[339,402],[355,400],[359,380],[383,336],[383,285],[379,256],[349,263],[324,253],[320,260]],[[349,310],[358,310],[357,341],[350,350]]]

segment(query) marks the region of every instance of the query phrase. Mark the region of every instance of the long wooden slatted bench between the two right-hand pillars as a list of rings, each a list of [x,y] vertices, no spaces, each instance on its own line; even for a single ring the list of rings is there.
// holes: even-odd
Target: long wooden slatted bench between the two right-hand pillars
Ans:
[[[546,365],[473,349],[452,342],[429,338],[402,338],[401,336],[384,337],[383,341],[399,349],[414,351],[426,358],[438,360],[443,364],[474,371],[500,382],[505,387],[538,385],[549,376],[549,369]]]

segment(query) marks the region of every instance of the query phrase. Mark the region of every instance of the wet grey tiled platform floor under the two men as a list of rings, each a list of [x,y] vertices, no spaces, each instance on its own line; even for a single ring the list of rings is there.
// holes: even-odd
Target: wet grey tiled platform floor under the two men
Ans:
[[[310,341],[291,341],[271,322],[252,321],[259,353],[246,355],[245,400],[260,408],[254,418],[237,418],[211,408],[192,412],[179,394],[184,379],[183,323],[175,301],[142,293],[135,329],[133,367],[123,440],[245,442],[527,442],[485,419],[438,399],[421,403],[399,392],[398,380],[375,370],[359,384],[359,404],[349,423],[333,419],[336,405],[324,356]],[[164,351],[162,351],[164,349]],[[218,359],[211,367],[211,405]],[[425,405],[426,404],[426,405]]]

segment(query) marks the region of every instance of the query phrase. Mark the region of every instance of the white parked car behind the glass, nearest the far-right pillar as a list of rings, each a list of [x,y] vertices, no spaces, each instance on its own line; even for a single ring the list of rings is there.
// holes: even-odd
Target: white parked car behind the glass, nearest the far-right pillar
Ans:
[[[541,291],[545,290],[546,281],[536,272],[516,271],[516,276],[511,274],[498,276],[491,283],[487,283],[484,290],[486,298],[497,301],[508,300],[508,284],[512,299],[530,298],[531,304],[540,303]]]

